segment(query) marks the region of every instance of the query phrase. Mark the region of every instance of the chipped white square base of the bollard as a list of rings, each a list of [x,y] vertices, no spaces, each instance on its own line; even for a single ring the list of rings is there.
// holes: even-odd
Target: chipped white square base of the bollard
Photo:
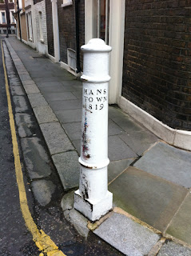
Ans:
[[[74,208],[85,215],[90,221],[97,221],[112,209],[113,194],[107,191],[105,198],[99,202],[82,198],[79,190],[74,192]]]

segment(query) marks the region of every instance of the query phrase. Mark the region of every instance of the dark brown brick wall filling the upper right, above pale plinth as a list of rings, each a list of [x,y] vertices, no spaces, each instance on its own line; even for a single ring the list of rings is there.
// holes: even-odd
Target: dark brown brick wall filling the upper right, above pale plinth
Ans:
[[[183,130],[191,130],[190,6],[190,0],[125,3],[122,96]]]

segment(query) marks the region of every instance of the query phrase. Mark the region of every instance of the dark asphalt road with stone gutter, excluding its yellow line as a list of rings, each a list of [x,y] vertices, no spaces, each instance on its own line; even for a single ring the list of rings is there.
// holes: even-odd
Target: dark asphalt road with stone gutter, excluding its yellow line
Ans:
[[[66,255],[122,255],[93,233],[82,238],[63,217],[60,202],[64,191],[50,160],[38,123],[30,107],[6,45],[3,43],[10,97],[16,122],[19,154],[30,214],[38,226]],[[0,255],[46,255],[38,250],[26,228],[20,208],[10,132],[2,49],[0,50]],[[27,120],[27,122],[26,122]],[[26,122],[24,125],[23,123]],[[24,161],[25,159],[25,161]],[[26,161],[27,159],[27,161]],[[35,172],[40,170],[40,172]],[[46,194],[43,194],[46,187]],[[42,189],[42,190],[41,190]],[[39,193],[35,194],[35,191]],[[56,255],[56,254],[55,254]]]

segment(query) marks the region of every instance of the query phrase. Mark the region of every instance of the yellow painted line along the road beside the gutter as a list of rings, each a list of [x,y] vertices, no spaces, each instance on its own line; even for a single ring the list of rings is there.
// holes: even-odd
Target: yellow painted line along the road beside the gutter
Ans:
[[[2,46],[2,40],[1,40],[1,46]],[[10,130],[11,130],[12,143],[13,143],[14,166],[15,166],[15,173],[16,173],[16,178],[18,182],[18,192],[19,192],[22,216],[26,222],[26,227],[30,230],[30,233],[33,236],[33,240],[36,246],[38,246],[38,250],[41,251],[39,256],[43,256],[43,255],[66,256],[66,254],[63,254],[61,250],[58,250],[58,246],[55,245],[55,243],[51,240],[50,236],[45,234],[43,230],[38,230],[38,227],[34,223],[34,220],[30,214],[30,210],[29,210],[29,206],[26,198],[26,189],[25,189],[23,176],[22,176],[22,166],[21,166],[20,156],[18,151],[18,142],[17,142],[17,136],[15,132],[15,125],[14,125],[14,114],[13,114],[11,101],[10,101],[10,91],[9,91],[9,84],[8,84],[8,79],[6,74],[6,65],[5,65],[3,48],[2,48],[2,63],[3,63],[4,74],[5,74],[5,81],[6,81],[6,97],[8,102],[9,116],[10,116]]]

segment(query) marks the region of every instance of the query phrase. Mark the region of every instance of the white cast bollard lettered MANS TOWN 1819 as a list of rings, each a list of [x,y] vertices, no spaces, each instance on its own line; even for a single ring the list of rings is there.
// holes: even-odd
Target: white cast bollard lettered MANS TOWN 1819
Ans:
[[[84,52],[80,186],[74,208],[91,221],[112,209],[108,191],[108,83],[111,47],[91,39]]]

